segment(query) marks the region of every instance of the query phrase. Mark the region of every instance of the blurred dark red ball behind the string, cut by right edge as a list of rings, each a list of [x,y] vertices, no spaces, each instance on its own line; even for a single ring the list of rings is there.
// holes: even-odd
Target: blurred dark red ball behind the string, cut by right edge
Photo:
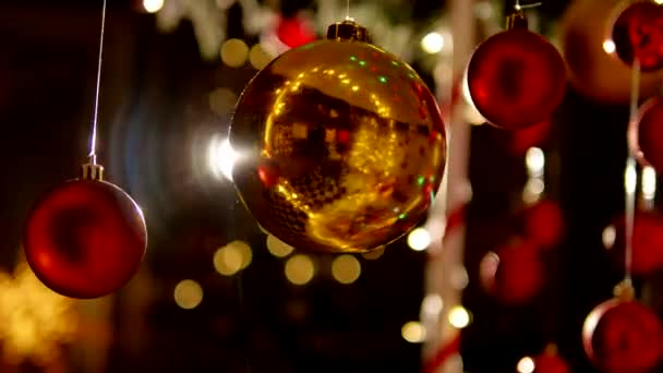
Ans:
[[[613,262],[624,268],[625,219],[615,219],[615,240],[607,244]],[[648,275],[663,268],[663,217],[654,212],[638,210],[634,220],[634,239],[631,250],[631,272],[635,275]]]

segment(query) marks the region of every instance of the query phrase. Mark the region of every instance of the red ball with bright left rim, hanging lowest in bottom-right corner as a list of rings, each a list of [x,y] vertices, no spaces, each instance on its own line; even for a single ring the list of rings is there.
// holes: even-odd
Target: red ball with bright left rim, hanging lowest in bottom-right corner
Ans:
[[[662,341],[659,317],[636,301],[601,303],[582,327],[587,356],[606,373],[651,372],[661,360]]]

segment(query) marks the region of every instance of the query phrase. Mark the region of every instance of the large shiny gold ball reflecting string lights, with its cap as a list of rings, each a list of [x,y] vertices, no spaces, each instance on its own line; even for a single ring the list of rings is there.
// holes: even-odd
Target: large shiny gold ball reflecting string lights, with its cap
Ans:
[[[236,107],[232,179],[260,226],[300,250],[365,252],[425,217],[445,127],[423,81],[352,21],[290,49]]]

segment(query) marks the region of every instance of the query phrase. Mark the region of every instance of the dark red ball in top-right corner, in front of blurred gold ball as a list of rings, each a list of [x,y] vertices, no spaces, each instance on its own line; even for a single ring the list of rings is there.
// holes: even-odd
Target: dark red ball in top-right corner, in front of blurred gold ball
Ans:
[[[663,68],[663,5],[653,1],[627,1],[611,29],[614,55],[641,71]]]

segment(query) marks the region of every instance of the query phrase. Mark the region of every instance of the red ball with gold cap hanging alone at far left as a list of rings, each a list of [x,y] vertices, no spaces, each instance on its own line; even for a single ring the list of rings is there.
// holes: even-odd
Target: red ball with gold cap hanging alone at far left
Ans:
[[[84,165],[80,179],[44,194],[25,221],[25,257],[53,291],[89,299],[121,288],[137,270],[147,232],[136,203]]]

